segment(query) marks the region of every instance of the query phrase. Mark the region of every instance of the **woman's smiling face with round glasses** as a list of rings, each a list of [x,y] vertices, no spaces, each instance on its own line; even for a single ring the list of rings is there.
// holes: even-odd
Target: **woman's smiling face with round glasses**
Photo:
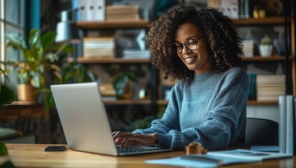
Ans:
[[[183,45],[183,50],[178,53],[178,57],[190,71],[195,71],[197,74],[209,71],[212,67],[209,59],[208,43],[206,37],[202,37],[204,35],[199,27],[192,23],[184,23],[178,28],[175,36],[176,46]],[[191,48],[190,45],[195,45],[196,40],[197,48]]]

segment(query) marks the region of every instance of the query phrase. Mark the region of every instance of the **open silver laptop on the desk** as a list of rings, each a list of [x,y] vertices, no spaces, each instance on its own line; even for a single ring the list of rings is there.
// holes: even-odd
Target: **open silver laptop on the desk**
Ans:
[[[116,146],[97,83],[51,85],[50,89],[70,149],[113,156],[171,151],[158,146]]]

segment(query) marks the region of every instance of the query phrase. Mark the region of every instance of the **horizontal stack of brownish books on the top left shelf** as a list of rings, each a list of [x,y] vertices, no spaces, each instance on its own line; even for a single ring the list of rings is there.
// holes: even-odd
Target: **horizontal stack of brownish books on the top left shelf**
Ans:
[[[140,7],[133,5],[106,6],[106,20],[139,20]]]

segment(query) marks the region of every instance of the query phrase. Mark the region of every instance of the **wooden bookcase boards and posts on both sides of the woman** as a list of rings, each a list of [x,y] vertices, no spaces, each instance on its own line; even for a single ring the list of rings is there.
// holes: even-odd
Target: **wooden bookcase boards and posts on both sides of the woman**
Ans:
[[[279,17],[267,17],[267,18],[246,18],[246,19],[234,19],[232,20],[235,27],[241,26],[254,26],[254,27],[265,27],[270,25],[285,25],[285,18],[282,16]],[[147,28],[148,24],[150,23],[149,20],[106,20],[104,22],[77,22],[77,26],[81,29],[132,29],[132,28]],[[294,26],[293,18],[287,19],[288,26]],[[291,53],[288,55],[288,62],[290,64],[289,72],[292,73],[291,83],[293,85],[293,94],[295,94],[295,48],[293,44],[295,43],[295,32],[291,29],[288,34],[292,35],[291,38]],[[78,62],[83,64],[150,64],[150,59],[123,59],[123,58],[111,58],[111,59],[103,59],[103,58],[84,58],[79,57]],[[286,64],[286,55],[273,55],[272,57],[260,57],[260,55],[253,55],[253,57],[244,57],[243,62],[248,63],[258,63],[261,62],[281,62],[282,64]],[[157,72],[156,72],[157,73]],[[154,85],[153,90],[157,90],[161,83],[157,83]],[[157,92],[157,91],[156,91]],[[158,94],[158,93],[156,93]],[[122,101],[119,102],[106,102],[106,104],[157,104],[161,106],[165,106],[167,101],[158,99],[160,97],[158,94],[156,98],[149,99],[149,100],[139,100],[139,101]],[[251,106],[269,106],[269,105],[276,105],[278,102],[276,101],[265,101],[265,102],[258,102],[255,100],[248,101],[248,105]]]

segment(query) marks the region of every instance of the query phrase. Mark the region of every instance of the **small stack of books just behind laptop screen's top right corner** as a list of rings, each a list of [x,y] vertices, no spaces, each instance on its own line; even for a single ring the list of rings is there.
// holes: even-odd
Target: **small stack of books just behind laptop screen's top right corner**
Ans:
[[[116,91],[112,83],[101,83],[99,84],[99,91],[101,92],[101,97],[106,101],[117,100]]]

